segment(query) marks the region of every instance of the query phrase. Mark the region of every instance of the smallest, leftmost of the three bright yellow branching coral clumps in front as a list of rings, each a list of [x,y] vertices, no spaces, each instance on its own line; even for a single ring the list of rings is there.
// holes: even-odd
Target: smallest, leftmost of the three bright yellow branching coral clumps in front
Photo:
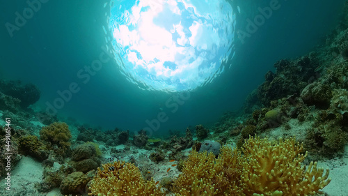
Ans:
[[[156,187],[155,181],[145,181],[139,168],[132,163],[118,161],[106,163],[102,168],[98,168],[91,181],[88,195],[165,195]]]

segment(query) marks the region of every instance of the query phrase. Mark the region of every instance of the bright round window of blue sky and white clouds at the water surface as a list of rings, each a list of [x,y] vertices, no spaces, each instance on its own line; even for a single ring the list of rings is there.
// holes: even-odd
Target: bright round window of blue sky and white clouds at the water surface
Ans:
[[[109,29],[121,71],[144,90],[192,91],[219,77],[235,54],[227,1],[118,1]]]

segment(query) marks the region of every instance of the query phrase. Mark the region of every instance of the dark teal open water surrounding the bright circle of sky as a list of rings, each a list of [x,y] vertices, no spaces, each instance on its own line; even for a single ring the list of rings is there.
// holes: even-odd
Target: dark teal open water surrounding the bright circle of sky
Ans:
[[[53,103],[57,91],[77,82],[81,90],[72,94],[58,116],[72,117],[81,123],[101,126],[104,130],[121,128],[140,130],[146,120],[165,112],[168,121],[156,133],[184,130],[203,123],[212,125],[226,110],[242,107],[244,99],[264,81],[264,74],[283,58],[294,58],[313,50],[338,24],[343,0],[279,1],[281,7],[242,44],[235,43],[235,58],[221,77],[190,93],[190,98],[174,107],[166,107],[173,94],[142,91],[120,75],[114,61],[105,63],[86,84],[77,77],[79,70],[99,58],[106,45],[106,1],[48,1],[10,38],[6,22],[15,22],[26,1],[6,1],[0,6],[0,77],[36,84],[41,92],[38,107]],[[258,15],[258,7],[270,1],[232,1],[239,6],[237,29],[245,31],[246,19]],[[238,39],[237,39],[238,40]]]

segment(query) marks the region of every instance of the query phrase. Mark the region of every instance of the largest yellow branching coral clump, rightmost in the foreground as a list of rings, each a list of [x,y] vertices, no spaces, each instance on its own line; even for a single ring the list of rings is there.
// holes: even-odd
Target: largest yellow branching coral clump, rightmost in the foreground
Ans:
[[[314,195],[328,185],[329,169],[317,168],[310,163],[307,169],[301,165],[306,155],[300,154],[303,145],[294,138],[272,144],[267,138],[249,138],[244,144],[242,183],[246,195]],[[281,194],[283,193],[283,194]]]

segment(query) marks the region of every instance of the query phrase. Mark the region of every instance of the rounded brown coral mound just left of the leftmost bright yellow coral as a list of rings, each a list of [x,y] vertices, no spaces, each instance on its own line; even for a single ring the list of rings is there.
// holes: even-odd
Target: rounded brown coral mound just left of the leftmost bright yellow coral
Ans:
[[[61,193],[63,195],[79,194],[82,195],[86,192],[86,184],[90,179],[82,172],[73,172],[66,176],[61,182]]]

